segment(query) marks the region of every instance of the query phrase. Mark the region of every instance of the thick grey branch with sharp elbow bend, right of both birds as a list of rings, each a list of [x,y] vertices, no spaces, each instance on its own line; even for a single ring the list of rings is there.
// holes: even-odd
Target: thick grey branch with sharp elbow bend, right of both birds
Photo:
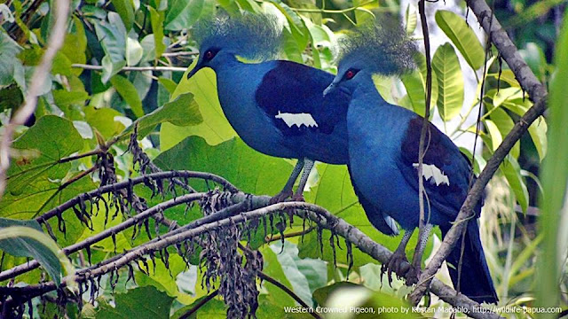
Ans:
[[[446,260],[448,254],[454,248],[455,243],[457,243],[461,236],[461,231],[467,225],[467,220],[473,214],[473,208],[476,206],[477,201],[481,198],[481,194],[485,190],[485,185],[489,183],[489,180],[491,180],[505,156],[509,154],[513,145],[517,143],[521,136],[525,134],[531,123],[544,113],[546,109],[546,88],[538,81],[525,61],[520,57],[517,48],[510,41],[509,35],[507,35],[499,21],[493,16],[493,12],[491,12],[491,9],[485,4],[485,1],[469,0],[468,5],[484,27],[485,32],[489,34],[492,43],[500,51],[501,56],[517,77],[517,81],[521,84],[521,87],[529,93],[530,98],[534,101],[534,105],[510,130],[509,135],[503,139],[501,145],[499,145],[497,150],[493,153],[491,159],[487,161],[484,170],[477,177],[477,181],[469,190],[468,196],[455,219],[454,225],[446,234],[438,252],[424,269],[419,284],[414,288],[414,292],[409,296],[409,299],[414,304],[417,304],[418,301],[422,299],[438,268],[441,267],[442,262]]]

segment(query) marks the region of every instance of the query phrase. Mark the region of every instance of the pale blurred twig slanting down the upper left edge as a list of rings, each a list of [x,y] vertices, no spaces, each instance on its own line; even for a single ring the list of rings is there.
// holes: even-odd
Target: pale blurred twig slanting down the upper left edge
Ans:
[[[59,48],[63,45],[63,40],[65,39],[69,1],[56,0],[54,4],[55,8],[52,8],[53,10],[51,12],[55,13],[55,23],[51,29],[51,36],[47,43],[47,49],[43,53],[42,62],[39,66],[36,66],[34,75],[29,82],[28,94],[26,95],[24,104],[20,106],[20,109],[14,113],[8,125],[5,126],[3,133],[4,136],[2,136],[2,141],[0,141],[0,199],[2,199],[6,189],[6,178],[8,167],[10,167],[11,145],[14,130],[19,125],[23,125],[26,121],[28,121],[28,118],[36,111],[37,97],[41,93],[43,82],[51,81],[48,78],[51,71],[51,63],[59,51]]]

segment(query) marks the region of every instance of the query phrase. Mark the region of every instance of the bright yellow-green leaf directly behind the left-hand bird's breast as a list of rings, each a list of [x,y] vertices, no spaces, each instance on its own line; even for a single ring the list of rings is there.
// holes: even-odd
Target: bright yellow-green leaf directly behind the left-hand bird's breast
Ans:
[[[187,73],[193,66],[195,66],[195,62],[182,76],[182,80],[177,85],[177,89],[171,98],[174,99],[183,93],[192,93],[193,99],[199,105],[203,122],[199,125],[185,128],[179,128],[170,123],[163,123],[160,129],[160,146],[162,151],[181,142],[187,136],[201,136],[211,145],[225,142],[237,136],[237,133],[225,119],[225,114],[221,109],[221,105],[219,105],[215,73],[209,68],[204,68],[187,80]]]

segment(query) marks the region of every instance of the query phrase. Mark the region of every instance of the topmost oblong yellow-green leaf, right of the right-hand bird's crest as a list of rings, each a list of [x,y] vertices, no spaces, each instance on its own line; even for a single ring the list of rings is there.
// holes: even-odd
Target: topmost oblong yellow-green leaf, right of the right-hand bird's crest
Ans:
[[[444,31],[447,37],[452,40],[455,47],[460,51],[469,66],[474,70],[483,66],[485,63],[485,51],[477,39],[477,35],[469,28],[465,19],[454,12],[438,10],[436,12],[436,23]]]

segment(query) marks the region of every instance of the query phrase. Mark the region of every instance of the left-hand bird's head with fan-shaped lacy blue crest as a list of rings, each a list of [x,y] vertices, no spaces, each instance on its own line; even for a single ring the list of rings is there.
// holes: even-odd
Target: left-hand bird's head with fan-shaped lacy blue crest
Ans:
[[[223,14],[214,19],[201,20],[192,29],[200,54],[187,78],[203,67],[215,70],[227,58],[273,58],[280,48],[280,30],[275,17],[260,13]]]

